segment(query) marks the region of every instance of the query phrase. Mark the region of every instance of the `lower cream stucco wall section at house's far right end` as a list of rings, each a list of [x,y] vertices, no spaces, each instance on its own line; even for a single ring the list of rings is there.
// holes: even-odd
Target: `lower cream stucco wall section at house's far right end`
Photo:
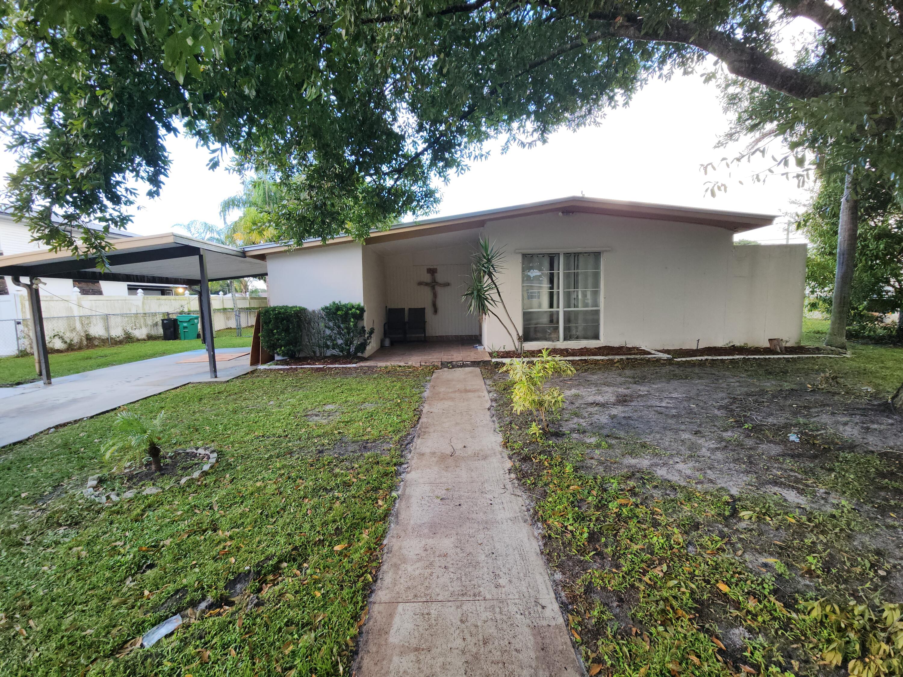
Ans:
[[[728,265],[726,325],[731,343],[790,345],[803,335],[805,245],[734,246]]]

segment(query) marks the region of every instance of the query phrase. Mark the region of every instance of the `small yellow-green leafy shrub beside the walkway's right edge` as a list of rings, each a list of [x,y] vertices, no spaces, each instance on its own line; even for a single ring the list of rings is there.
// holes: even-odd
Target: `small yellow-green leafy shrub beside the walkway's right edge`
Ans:
[[[564,406],[564,394],[559,388],[545,385],[555,374],[573,376],[573,366],[561,357],[549,355],[546,348],[535,360],[513,359],[502,367],[514,382],[511,388],[511,410],[530,412],[533,424],[530,434],[536,441],[549,431],[548,417]]]

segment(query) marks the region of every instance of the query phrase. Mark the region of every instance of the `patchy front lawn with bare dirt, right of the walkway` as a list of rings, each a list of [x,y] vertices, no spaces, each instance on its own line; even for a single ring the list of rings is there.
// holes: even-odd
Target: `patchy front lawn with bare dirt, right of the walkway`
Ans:
[[[903,674],[903,349],[484,374],[591,675]]]

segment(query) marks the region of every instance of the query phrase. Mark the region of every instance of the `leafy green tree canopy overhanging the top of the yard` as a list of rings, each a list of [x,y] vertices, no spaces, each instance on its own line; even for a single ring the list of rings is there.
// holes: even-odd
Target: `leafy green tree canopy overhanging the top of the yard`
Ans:
[[[785,62],[796,16],[819,28]],[[180,129],[211,164],[228,148],[238,169],[271,173],[279,236],[361,238],[433,209],[436,181],[487,140],[591,124],[707,55],[750,83],[732,94],[744,129],[777,121],[790,143],[841,147],[895,190],[903,175],[894,3],[12,0],[0,34],[0,115],[21,154],[10,199],[54,247],[79,243],[51,214],[126,227],[135,181],[159,192],[164,136]]]

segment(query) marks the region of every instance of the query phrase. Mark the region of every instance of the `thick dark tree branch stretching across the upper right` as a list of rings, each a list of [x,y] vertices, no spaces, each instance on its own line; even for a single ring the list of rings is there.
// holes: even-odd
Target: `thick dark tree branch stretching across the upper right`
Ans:
[[[676,42],[707,51],[724,62],[727,69],[740,78],[758,82],[788,97],[799,99],[819,97],[828,88],[811,75],[785,66],[727,33],[702,28],[679,19],[667,23],[655,32],[644,32],[640,17],[611,16],[591,12],[592,21],[602,23],[611,37],[643,42]]]

